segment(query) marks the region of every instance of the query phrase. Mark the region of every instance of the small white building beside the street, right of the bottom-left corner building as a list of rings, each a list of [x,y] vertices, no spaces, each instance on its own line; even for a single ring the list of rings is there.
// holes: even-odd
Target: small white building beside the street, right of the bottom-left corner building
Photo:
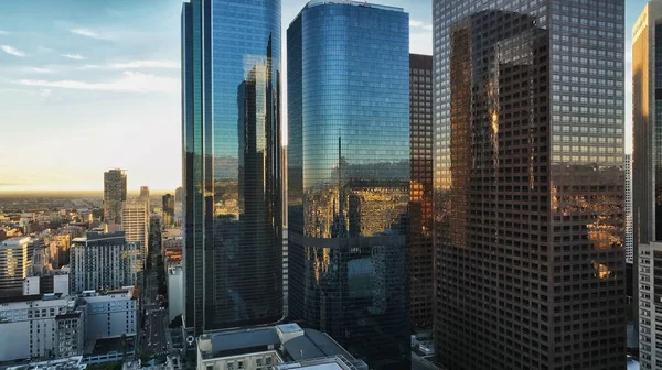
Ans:
[[[85,313],[86,341],[135,336],[138,329],[138,305],[132,287],[105,292],[85,292],[81,306]]]

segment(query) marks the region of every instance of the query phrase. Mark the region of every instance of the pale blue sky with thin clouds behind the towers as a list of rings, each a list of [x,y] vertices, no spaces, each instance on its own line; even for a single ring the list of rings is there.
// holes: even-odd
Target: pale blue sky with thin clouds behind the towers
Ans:
[[[281,1],[285,48],[307,0]],[[404,8],[410,52],[431,54],[431,0],[375,2]],[[102,189],[114,167],[129,189],[180,185],[181,3],[0,0],[0,192]],[[644,4],[627,0],[628,81]]]

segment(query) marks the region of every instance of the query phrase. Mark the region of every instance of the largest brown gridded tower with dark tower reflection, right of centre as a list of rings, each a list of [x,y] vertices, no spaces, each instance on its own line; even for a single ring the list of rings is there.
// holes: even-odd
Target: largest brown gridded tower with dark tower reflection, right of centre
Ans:
[[[622,0],[434,0],[436,353],[623,369]]]

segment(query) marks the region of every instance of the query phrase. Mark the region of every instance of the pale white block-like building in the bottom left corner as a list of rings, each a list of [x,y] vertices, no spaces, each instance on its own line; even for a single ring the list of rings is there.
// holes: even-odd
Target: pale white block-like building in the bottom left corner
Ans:
[[[0,297],[0,361],[82,355],[84,318],[76,297]]]

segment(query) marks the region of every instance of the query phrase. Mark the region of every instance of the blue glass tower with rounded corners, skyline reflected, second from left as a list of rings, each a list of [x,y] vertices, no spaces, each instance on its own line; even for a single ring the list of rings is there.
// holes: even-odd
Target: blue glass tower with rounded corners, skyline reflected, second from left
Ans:
[[[311,1],[287,31],[289,317],[409,368],[409,17]]]

